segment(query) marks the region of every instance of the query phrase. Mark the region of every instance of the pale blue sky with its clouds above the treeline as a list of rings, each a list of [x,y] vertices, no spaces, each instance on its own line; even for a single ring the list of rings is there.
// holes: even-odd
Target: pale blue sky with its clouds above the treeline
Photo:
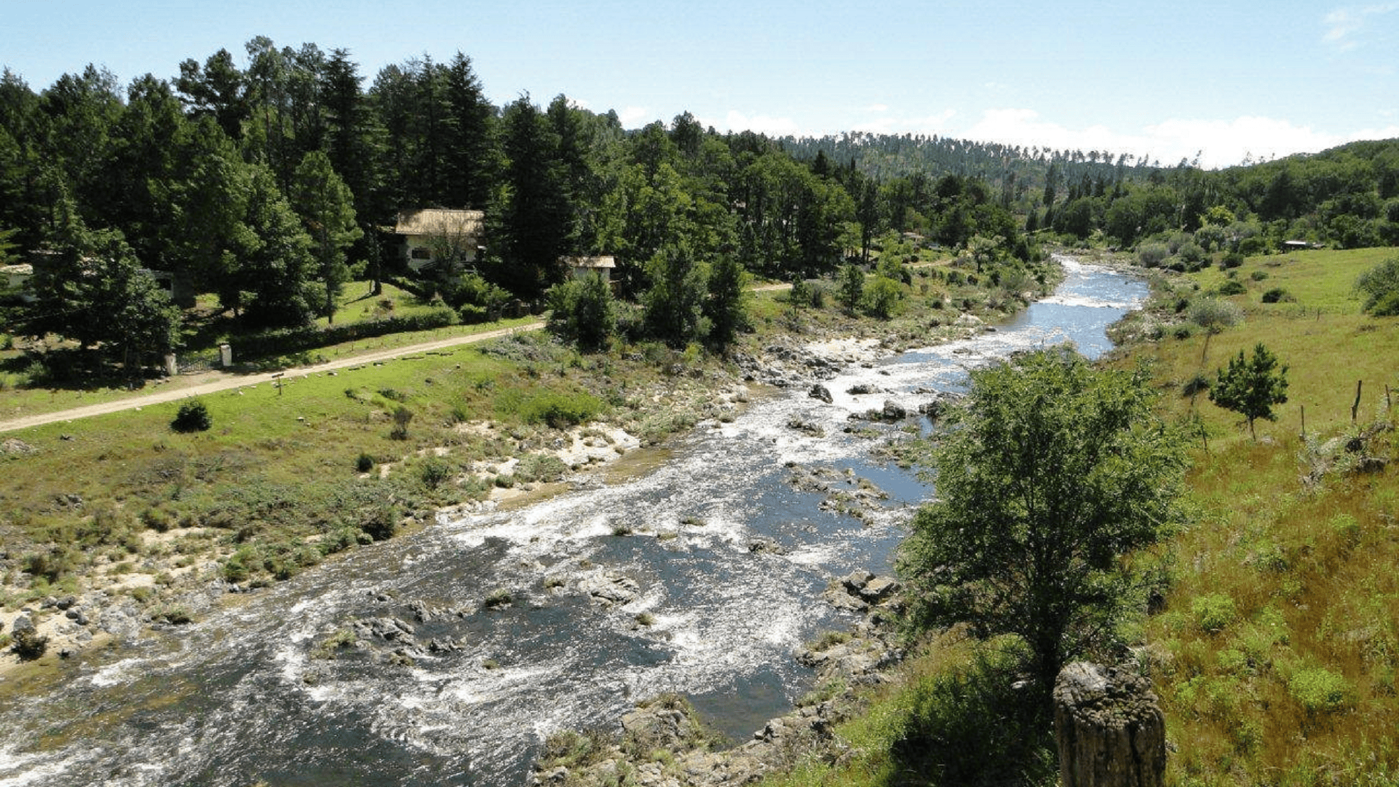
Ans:
[[[329,8],[327,8],[329,6]],[[497,104],[565,94],[624,125],[925,133],[1205,165],[1399,137],[1399,1],[3,0],[0,64],[173,77],[256,35],[372,81],[471,57]]]

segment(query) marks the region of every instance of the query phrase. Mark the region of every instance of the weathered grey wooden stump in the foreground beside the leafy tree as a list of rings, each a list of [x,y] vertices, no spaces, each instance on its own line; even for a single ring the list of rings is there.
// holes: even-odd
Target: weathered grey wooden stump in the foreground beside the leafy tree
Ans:
[[[1161,787],[1165,716],[1151,681],[1077,661],[1053,688],[1060,787]]]

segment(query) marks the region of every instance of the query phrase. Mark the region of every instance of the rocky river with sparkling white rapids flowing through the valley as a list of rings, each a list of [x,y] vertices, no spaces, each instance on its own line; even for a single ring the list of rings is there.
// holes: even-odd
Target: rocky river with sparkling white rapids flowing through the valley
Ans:
[[[870,459],[879,438],[842,433],[848,416],[886,399],[912,410],[1020,349],[1073,342],[1098,356],[1104,328],[1146,297],[1137,279],[1060,262],[1055,294],[996,332],[848,368],[824,381],[832,403],[804,389],[765,398],[642,478],[439,517],[66,665],[46,696],[0,704],[0,787],[513,786],[550,732],[614,728],[660,692],[741,741],[810,688],[802,643],[848,625],[821,598],[827,583],[888,573],[930,492]],[[846,394],[859,384],[881,392]],[[862,521],[792,485],[793,468],[890,497]],[[635,595],[606,605],[588,587]],[[488,606],[501,588],[511,604]],[[395,618],[417,641],[411,664],[385,664],[386,647],[315,654],[357,620]]]

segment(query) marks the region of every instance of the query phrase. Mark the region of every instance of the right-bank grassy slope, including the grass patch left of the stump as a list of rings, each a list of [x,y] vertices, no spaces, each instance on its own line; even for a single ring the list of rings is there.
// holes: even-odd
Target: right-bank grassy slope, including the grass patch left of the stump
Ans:
[[[1385,392],[1399,398],[1399,319],[1361,315],[1353,291],[1361,272],[1396,255],[1308,251],[1163,279],[1153,308],[1132,318],[1151,339],[1111,361],[1149,363],[1161,406],[1200,427],[1188,479],[1195,524],[1137,557],[1168,566],[1171,585],[1163,611],[1125,632],[1167,714],[1167,784],[1399,784],[1399,457]],[[1220,295],[1230,280],[1244,291]],[[1279,287],[1290,298],[1263,302]],[[1242,321],[1216,335],[1189,323],[1188,301],[1210,297],[1240,307]],[[1189,384],[1213,381],[1259,342],[1288,365],[1288,401],[1276,422],[1255,424],[1255,441],[1241,416],[1207,391],[1192,398]],[[1365,444],[1349,452],[1357,436]],[[1361,454],[1391,465],[1358,472]],[[1009,681],[978,662],[986,653],[996,648],[957,632],[922,643],[835,730],[845,755],[764,784],[1053,783],[1045,748],[1016,749],[1000,731],[1014,716],[997,704]],[[990,767],[964,762],[977,758]]]

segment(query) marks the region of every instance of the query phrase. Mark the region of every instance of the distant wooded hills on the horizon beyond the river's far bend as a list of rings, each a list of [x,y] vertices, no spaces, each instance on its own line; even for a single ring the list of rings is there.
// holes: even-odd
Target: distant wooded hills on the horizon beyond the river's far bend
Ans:
[[[1172,242],[1181,232],[1206,252],[1245,255],[1277,251],[1288,239],[1339,248],[1399,244],[1399,140],[1249,160],[1216,171],[1202,169],[1199,158],[1163,167],[1147,155],[918,134],[851,133],[781,143],[799,157],[827,151],[858,161],[872,178],[902,176],[915,195],[929,188],[919,174],[975,176],[1030,231],[1084,241],[1100,235],[1126,248]],[[1205,235],[1195,238],[1200,230]]]

